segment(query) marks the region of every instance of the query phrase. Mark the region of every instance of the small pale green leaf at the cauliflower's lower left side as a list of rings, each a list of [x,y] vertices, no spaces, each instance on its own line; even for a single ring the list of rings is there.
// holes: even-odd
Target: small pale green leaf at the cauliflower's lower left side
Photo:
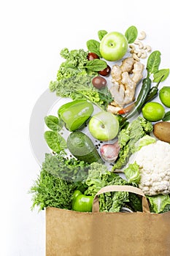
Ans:
[[[141,175],[139,171],[139,165],[137,165],[136,162],[134,162],[134,164],[129,164],[128,167],[125,168],[124,173],[129,183],[139,184]]]

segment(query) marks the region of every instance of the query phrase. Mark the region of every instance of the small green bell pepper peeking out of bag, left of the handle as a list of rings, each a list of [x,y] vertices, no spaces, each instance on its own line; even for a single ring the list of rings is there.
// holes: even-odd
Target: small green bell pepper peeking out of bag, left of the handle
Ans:
[[[73,211],[92,211],[93,196],[83,195],[80,190],[74,191],[72,199],[72,210]]]

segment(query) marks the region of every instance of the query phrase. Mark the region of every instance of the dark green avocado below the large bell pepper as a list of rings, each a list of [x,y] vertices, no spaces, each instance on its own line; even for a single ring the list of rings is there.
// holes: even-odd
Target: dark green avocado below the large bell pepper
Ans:
[[[80,161],[103,163],[92,140],[83,132],[72,132],[67,138],[67,146],[74,157]]]

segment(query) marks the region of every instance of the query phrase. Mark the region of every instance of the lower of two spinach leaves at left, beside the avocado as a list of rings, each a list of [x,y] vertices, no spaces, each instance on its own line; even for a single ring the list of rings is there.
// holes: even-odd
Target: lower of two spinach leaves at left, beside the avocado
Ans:
[[[60,153],[66,146],[66,140],[58,132],[46,131],[45,140],[47,145],[56,153]]]

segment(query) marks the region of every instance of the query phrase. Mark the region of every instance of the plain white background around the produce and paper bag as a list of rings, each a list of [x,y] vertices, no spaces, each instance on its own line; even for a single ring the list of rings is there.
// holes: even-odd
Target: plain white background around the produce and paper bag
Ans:
[[[168,1],[15,0],[0,4],[1,249],[3,256],[45,255],[45,211],[31,211],[28,189],[39,173],[29,144],[29,119],[48,88],[62,48],[86,49],[97,31],[134,25],[170,67]],[[170,81],[166,80],[170,86]]]

